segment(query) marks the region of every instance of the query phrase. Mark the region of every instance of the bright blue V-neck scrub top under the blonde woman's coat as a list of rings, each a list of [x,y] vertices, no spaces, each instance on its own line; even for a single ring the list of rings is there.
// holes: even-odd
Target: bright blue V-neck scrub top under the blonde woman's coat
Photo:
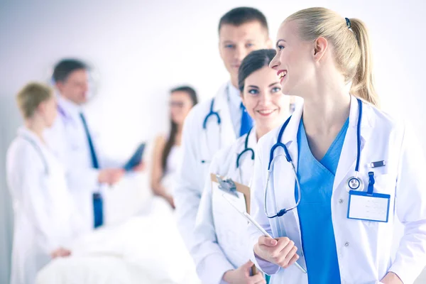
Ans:
[[[297,132],[299,151],[297,178],[299,178],[301,190],[297,213],[300,220],[307,278],[312,284],[340,283],[331,201],[334,176],[348,126],[349,119],[346,120],[342,130],[320,161],[310,151],[302,120]],[[297,185],[295,198],[297,200]]]

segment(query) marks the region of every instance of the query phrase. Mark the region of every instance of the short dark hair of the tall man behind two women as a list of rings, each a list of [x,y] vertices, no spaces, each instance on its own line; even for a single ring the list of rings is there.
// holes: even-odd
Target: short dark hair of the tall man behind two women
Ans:
[[[263,28],[266,29],[268,33],[268,22],[266,21],[265,15],[258,9],[250,7],[238,7],[234,8],[231,11],[228,11],[219,21],[219,33],[220,28],[223,25],[229,24],[233,26],[241,26],[244,23],[251,23],[257,21],[261,24]]]

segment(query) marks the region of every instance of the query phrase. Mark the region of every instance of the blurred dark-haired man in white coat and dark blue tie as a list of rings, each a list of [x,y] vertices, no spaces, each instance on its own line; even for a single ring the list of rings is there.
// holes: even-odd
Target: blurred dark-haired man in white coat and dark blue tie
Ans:
[[[65,165],[67,185],[84,217],[86,230],[104,224],[102,185],[114,185],[124,170],[107,165],[99,155],[82,106],[87,102],[88,67],[79,60],[65,59],[55,65],[53,80],[59,92],[59,116],[45,140]]]

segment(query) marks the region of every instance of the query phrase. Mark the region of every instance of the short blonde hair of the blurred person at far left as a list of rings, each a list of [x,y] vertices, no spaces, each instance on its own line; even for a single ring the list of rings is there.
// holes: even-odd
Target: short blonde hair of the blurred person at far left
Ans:
[[[53,89],[45,84],[31,82],[26,84],[16,97],[16,102],[24,119],[31,119],[40,103],[53,97]]]

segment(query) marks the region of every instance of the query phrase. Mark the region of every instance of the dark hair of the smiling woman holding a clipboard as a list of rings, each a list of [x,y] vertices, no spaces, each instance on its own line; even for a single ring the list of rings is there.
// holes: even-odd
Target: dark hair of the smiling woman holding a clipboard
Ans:
[[[238,87],[240,92],[244,90],[244,81],[251,75],[251,73],[269,66],[275,56],[273,49],[254,50],[244,58],[238,70]]]

